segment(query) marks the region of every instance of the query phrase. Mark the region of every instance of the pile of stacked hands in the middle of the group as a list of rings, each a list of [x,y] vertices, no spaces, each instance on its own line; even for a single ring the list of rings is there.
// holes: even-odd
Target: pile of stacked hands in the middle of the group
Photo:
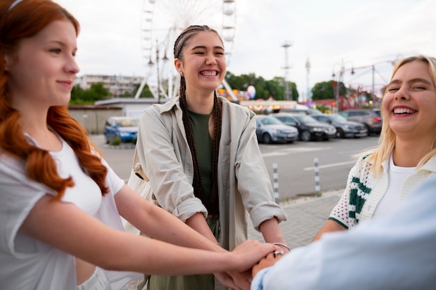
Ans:
[[[231,290],[249,290],[251,280],[263,268],[272,266],[290,249],[284,243],[260,243],[247,240],[231,252],[238,261],[235,270],[214,273],[215,277]]]

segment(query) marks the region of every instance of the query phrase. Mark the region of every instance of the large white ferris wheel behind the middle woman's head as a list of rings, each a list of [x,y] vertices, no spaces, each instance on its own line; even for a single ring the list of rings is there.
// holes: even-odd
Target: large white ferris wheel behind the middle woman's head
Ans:
[[[208,25],[224,42],[227,65],[235,38],[235,0],[143,0],[141,50],[146,73],[135,99],[148,85],[153,97],[178,94],[179,75],[173,65],[173,45],[189,25]],[[226,89],[230,89],[224,81]]]

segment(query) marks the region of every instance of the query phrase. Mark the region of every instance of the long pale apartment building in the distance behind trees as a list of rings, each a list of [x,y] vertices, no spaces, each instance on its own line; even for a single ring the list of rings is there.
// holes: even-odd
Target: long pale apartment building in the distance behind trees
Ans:
[[[85,74],[77,76],[75,85],[78,84],[82,89],[88,90],[94,83],[102,83],[112,96],[123,96],[125,92],[132,94],[142,79],[143,76]]]

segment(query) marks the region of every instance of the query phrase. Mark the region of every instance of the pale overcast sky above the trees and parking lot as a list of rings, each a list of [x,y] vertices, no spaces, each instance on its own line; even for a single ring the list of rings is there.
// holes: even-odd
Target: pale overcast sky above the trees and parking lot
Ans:
[[[235,0],[232,16],[222,13],[219,0],[55,1],[81,24],[78,76],[153,74],[146,47],[162,52],[162,35],[189,24],[208,24],[225,36],[222,27],[233,23],[233,41],[224,43],[227,70],[286,77],[296,83],[300,101],[314,84],[337,80],[341,70],[346,86],[377,90],[398,59],[436,56],[435,0]],[[144,32],[149,28],[152,37]],[[172,47],[173,40],[164,72],[173,72]]]

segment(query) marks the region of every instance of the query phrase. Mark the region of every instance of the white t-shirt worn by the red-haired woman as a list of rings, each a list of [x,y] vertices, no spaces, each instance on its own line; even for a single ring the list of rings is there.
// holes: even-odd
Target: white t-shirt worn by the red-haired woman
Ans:
[[[33,141],[33,140],[31,140]],[[72,148],[63,142],[61,151],[52,152],[61,177],[72,176],[75,186],[67,188],[63,202],[72,202],[102,223],[123,230],[114,195],[124,182],[105,161],[109,193],[101,194],[98,185],[83,170]],[[34,143],[34,141],[33,141]],[[0,284],[2,289],[59,290],[77,289],[74,257],[18,232],[33,206],[51,188],[24,175],[24,163],[0,153]],[[120,289],[139,273],[105,271],[112,289]]]

